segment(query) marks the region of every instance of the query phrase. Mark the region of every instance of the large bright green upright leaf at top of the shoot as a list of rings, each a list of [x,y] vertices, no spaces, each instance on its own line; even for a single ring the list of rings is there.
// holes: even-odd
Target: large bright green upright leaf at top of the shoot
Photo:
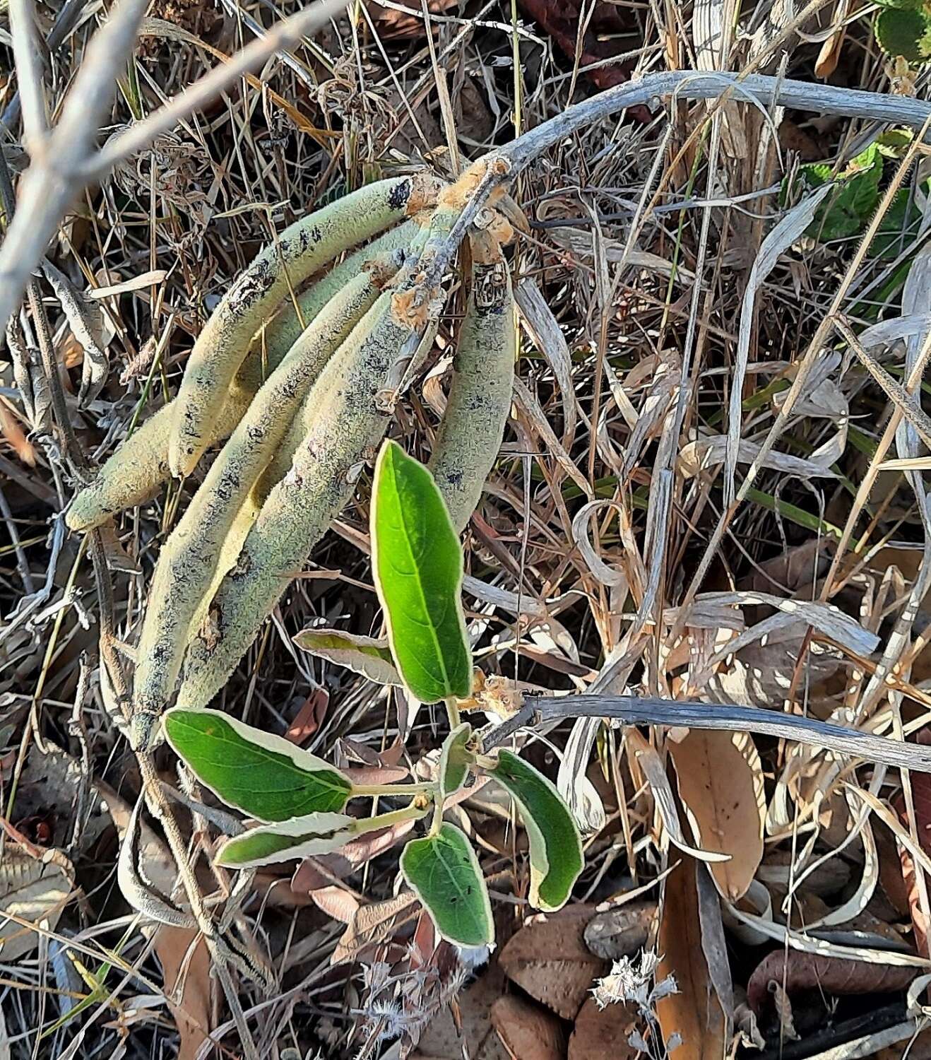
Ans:
[[[406,687],[422,703],[465,699],[472,667],[462,548],[433,476],[391,441],[375,464],[372,566]]]

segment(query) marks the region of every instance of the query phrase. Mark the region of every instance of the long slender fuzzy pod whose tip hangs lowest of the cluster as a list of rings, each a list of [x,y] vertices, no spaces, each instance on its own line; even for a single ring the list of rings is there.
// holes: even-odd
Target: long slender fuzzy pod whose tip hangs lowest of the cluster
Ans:
[[[167,705],[234,522],[321,368],[378,294],[376,278],[363,272],[318,315],[258,390],[162,546],[139,639],[133,712],[158,714]]]

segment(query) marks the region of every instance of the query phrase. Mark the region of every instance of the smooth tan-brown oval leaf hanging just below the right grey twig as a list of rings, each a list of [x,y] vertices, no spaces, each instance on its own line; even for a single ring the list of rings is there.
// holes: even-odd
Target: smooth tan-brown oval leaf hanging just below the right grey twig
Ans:
[[[736,902],[763,860],[766,795],[756,747],[746,732],[698,729],[678,743],[667,740],[666,747],[696,844],[730,854],[709,868],[723,897]]]

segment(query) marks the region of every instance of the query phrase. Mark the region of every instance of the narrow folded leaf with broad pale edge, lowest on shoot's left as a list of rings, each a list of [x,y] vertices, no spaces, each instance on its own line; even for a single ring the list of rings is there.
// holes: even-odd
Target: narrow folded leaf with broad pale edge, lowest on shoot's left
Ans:
[[[276,825],[259,825],[236,835],[217,851],[217,864],[254,868],[276,862],[328,854],[358,834],[359,822],[344,813],[311,813]]]

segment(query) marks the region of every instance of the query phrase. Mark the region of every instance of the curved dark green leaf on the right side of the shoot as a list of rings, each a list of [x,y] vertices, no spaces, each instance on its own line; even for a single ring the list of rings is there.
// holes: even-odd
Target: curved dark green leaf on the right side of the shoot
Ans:
[[[585,860],[581,840],[569,807],[555,785],[509,750],[498,754],[487,771],[517,802],[531,846],[530,903],[538,909],[559,909],[569,900]]]

